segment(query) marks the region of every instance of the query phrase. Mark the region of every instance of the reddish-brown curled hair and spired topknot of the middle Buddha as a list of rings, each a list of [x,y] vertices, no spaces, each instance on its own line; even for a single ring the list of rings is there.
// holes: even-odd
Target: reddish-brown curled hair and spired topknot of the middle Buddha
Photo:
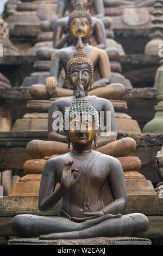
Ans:
[[[70,59],[67,63],[67,78],[70,78],[70,70],[71,66],[74,64],[88,64],[91,69],[91,77],[93,77],[93,70],[94,70],[94,65],[92,63],[92,60],[87,58],[86,53],[83,51],[83,42],[82,39],[79,36],[78,42],[77,42],[77,51],[74,53],[72,59]]]

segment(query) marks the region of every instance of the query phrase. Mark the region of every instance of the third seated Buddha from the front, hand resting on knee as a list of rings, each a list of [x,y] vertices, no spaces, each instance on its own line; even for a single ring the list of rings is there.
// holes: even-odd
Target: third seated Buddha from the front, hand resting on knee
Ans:
[[[95,75],[93,77],[94,81],[92,83],[92,87],[101,87],[104,84],[109,84],[111,81],[111,75],[114,77],[112,78],[113,81],[117,82],[121,80],[124,85],[127,84],[128,86],[128,80],[126,80],[124,76],[120,74],[114,74],[114,72],[112,72],[111,74],[108,54],[104,50],[90,46],[88,44],[91,29],[91,15],[90,13],[87,13],[87,11],[81,5],[79,5],[68,18],[68,32],[71,35],[72,45],[57,50],[55,52],[53,52],[52,49],[53,53],[51,57],[50,76],[46,80],[46,86],[42,84],[37,84],[34,87],[32,86],[32,88],[30,89],[30,93],[34,97],[34,99],[48,99],[51,96],[53,97],[55,87],[61,86],[60,84],[58,84],[60,70],[61,68],[63,68],[66,72],[67,62],[76,52],[76,45],[79,36],[81,36],[84,44],[84,52],[87,54],[87,57],[92,60],[93,65],[95,66]],[[46,50],[43,47],[40,48],[40,50],[37,51],[37,56],[46,59]],[[68,87],[66,79],[64,82],[64,87]]]

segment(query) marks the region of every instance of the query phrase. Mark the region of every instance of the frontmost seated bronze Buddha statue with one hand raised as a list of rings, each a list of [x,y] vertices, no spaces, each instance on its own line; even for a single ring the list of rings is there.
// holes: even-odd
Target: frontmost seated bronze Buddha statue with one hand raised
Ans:
[[[121,163],[92,150],[99,115],[85,99],[82,80],[76,100],[64,116],[70,153],[49,159],[42,172],[39,209],[52,209],[60,199],[58,217],[17,215],[11,228],[18,237],[40,240],[142,236],[148,229],[143,214],[123,215],[127,192]],[[58,188],[55,188],[59,184]]]

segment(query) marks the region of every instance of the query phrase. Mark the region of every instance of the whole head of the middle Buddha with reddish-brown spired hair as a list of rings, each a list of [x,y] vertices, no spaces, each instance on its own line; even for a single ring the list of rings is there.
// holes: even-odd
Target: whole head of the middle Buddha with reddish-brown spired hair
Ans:
[[[67,78],[71,83],[71,87],[76,90],[80,78],[84,90],[87,92],[89,87],[91,88],[93,69],[92,60],[86,57],[86,53],[83,51],[83,42],[79,37],[77,51],[67,63]]]

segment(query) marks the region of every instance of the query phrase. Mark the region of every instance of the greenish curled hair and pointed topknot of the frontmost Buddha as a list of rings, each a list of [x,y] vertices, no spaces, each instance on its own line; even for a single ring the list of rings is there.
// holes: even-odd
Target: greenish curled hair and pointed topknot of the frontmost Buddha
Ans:
[[[71,107],[69,107],[67,109],[67,111],[65,112],[64,115],[64,130],[68,130],[69,126],[67,127],[65,125],[69,124],[69,119],[71,117],[74,117],[74,115],[79,115],[79,114],[88,114],[88,115],[92,115],[93,117],[95,117],[95,130],[98,131],[99,130],[99,114],[98,111],[96,110],[96,108],[92,107],[90,105],[90,103],[84,98],[85,96],[85,92],[84,92],[84,88],[82,85],[82,81],[80,80],[79,77],[79,82],[78,82],[78,87],[76,90],[76,100],[74,100],[74,102],[72,103]]]

